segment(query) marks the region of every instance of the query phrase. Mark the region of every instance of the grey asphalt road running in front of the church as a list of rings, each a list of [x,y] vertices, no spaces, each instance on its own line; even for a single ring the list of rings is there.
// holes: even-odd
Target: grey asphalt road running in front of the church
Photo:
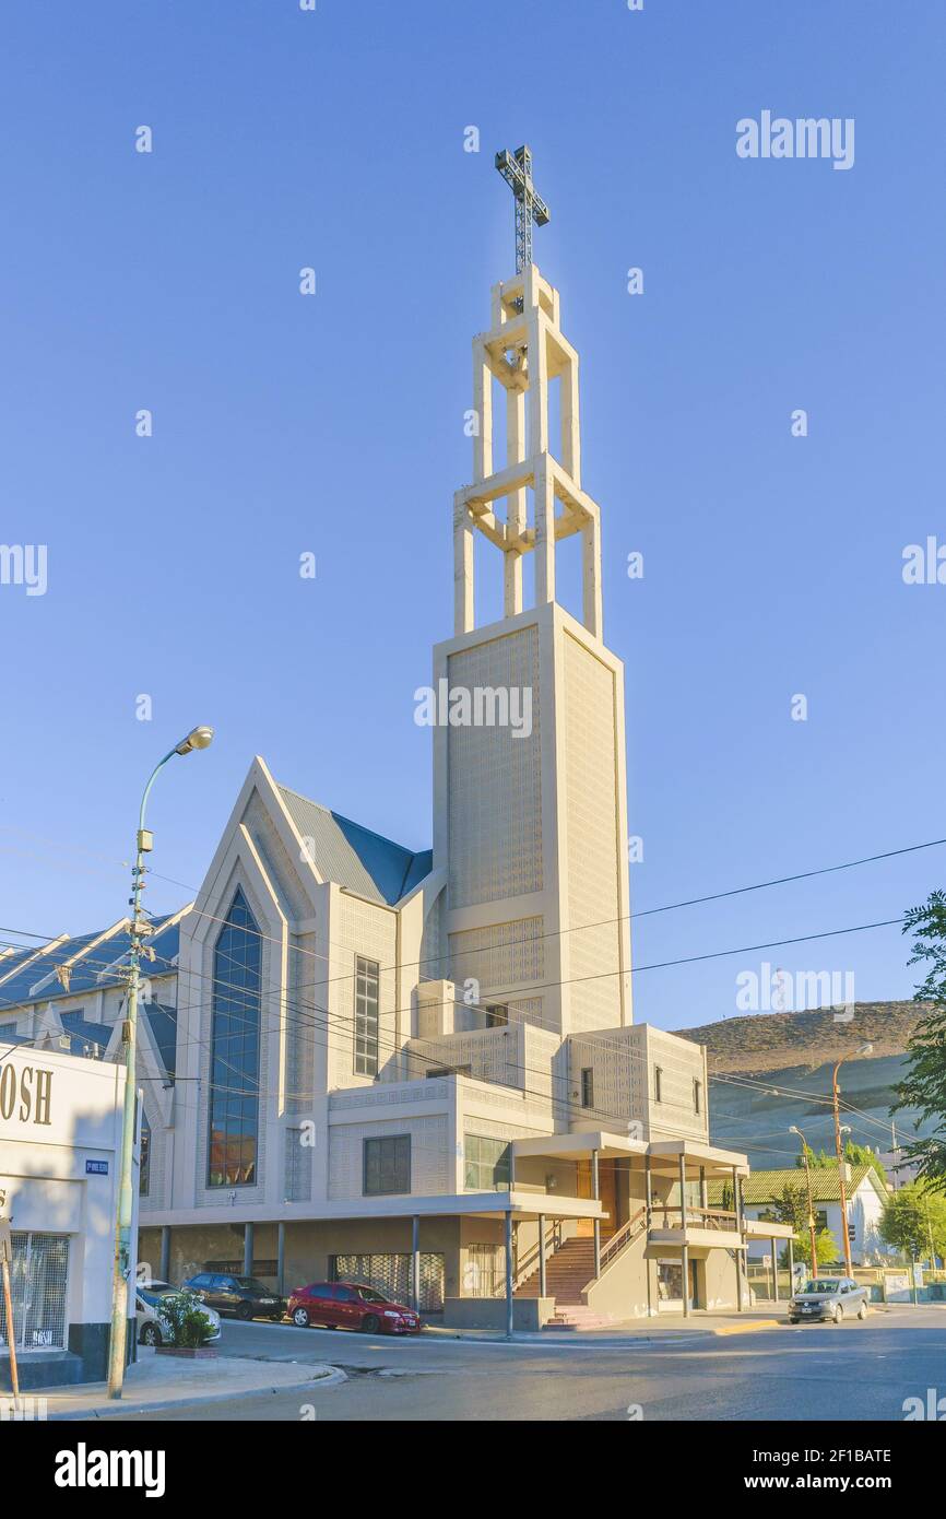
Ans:
[[[292,1325],[225,1323],[220,1352],[323,1360],[348,1381],[322,1391],[193,1407],[191,1420],[903,1420],[907,1397],[946,1391],[946,1311],[867,1323],[595,1344],[369,1338]],[[115,1414],[153,1422],[175,1410]]]

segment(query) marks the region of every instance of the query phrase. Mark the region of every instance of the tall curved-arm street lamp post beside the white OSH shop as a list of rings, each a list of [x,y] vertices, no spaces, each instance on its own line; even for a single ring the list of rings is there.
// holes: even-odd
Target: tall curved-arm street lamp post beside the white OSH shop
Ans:
[[[129,905],[132,921],[129,928],[131,957],[128,972],[128,1007],[121,1042],[125,1044],[125,1110],[121,1115],[121,1157],[118,1165],[118,1200],[115,1208],[115,1258],[112,1271],[112,1328],[108,1341],[108,1396],[121,1397],[125,1382],[125,1353],[128,1337],[128,1271],[131,1262],[132,1232],[132,1156],[135,1147],[135,1030],[138,1024],[138,969],[141,963],[141,940],[149,928],[141,917],[141,890],[144,886],[144,855],[152,849],[153,838],[144,826],[144,811],[150,788],[161,770],[175,755],[188,755],[193,749],[207,749],[213,741],[213,728],[191,728],[190,734],[175,744],[152,770],[141,807],[138,810],[138,834],[135,838],[135,864],[132,869],[132,895]]]

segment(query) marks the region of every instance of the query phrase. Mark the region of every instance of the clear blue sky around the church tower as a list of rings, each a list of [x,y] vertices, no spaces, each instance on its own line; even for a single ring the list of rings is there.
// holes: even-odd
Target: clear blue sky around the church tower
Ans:
[[[49,589],[0,586],[3,927],[120,916],[143,779],[194,722],[217,741],[155,791],[155,870],[199,884],[257,752],[430,843],[413,690],[453,629],[469,340],[512,272],[492,155],[522,141],[583,358],[635,905],[946,834],[946,586],[900,576],[946,541],[944,41],[941,6],[888,0],[8,6],[0,538],[49,545]],[[853,117],[855,167],[739,159],[762,109]],[[641,919],[636,962],[944,881],[932,849]],[[185,896],[155,880],[150,907]],[[914,981],[881,930],[642,971],[636,1016],[732,1016],[762,958],[858,998]]]

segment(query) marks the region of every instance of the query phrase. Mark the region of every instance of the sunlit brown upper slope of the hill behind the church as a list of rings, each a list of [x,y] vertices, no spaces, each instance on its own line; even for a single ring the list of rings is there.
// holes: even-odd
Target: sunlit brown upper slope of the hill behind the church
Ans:
[[[682,1039],[706,1045],[709,1069],[774,1071],[784,1066],[825,1065],[852,1054],[870,1041],[866,1059],[903,1054],[907,1042],[929,1010],[925,1003],[855,1003],[849,1024],[835,1021],[832,1009],[809,1013],[752,1013],[723,1018],[698,1028],[676,1030]]]

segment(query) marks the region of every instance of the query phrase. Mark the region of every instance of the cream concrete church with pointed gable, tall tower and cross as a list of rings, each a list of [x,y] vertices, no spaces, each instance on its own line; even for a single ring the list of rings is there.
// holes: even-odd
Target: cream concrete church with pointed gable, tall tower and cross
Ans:
[[[472,345],[431,848],[252,761],[196,901],[150,939],[138,1255],[173,1282],[361,1281],[457,1326],[743,1306],[747,1243],[784,1230],[747,1221],[746,1157],[709,1144],[705,1051],[633,1022],[624,670],[604,643],[579,355],[531,261],[548,213],[528,150],[497,167],[518,272]],[[503,583],[486,626],[477,536]],[[556,598],[569,536],[580,617]],[[126,925],[109,934],[21,977],[11,1031],[109,1034]],[[67,960],[85,974],[62,984]],[[0,996],[3,980],[0,962]]]

